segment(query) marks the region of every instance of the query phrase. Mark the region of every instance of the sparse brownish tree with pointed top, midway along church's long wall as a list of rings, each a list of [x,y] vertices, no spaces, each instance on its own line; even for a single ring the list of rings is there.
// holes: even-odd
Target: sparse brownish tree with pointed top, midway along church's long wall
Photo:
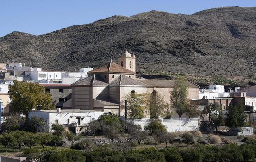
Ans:
[[[164,100],[163,96],[153,90],[150,96],[150,119],[170,116],[170,105]]]

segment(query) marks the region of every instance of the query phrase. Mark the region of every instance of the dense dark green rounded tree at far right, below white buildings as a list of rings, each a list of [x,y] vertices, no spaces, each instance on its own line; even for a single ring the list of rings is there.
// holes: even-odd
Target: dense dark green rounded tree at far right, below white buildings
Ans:
[[[227,118],[225,120],[226,126],[234,128],[245,125],[246,115],[244,113],[244,107],[241,104],[229,106],[228,110]]]

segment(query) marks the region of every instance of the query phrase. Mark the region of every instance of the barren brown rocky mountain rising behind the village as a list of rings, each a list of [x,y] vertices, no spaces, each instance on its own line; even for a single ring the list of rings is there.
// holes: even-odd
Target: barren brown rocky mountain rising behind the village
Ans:
[[[15,31],[0,37],[0,62],[78,70],[117,61],[126,49],[141,74],[243,78],[256,72],[256,7],[112,16],[39,36]]]

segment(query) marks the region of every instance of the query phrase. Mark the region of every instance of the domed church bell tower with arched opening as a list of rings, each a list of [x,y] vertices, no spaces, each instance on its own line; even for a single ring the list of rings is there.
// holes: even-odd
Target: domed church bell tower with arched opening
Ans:
[[[118,64],[133,72],[136,71],[135,55],[133,54],[131,56],[128,50],[126,50],[126,52],[121,55],[119,54]]]

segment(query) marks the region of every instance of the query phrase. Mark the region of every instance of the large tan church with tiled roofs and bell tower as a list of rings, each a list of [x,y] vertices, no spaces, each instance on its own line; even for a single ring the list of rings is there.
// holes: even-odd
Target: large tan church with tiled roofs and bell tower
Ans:
[[[87,72],[87,78],[72,84],[72,103],[67,108],[100,110],[124,116],[125,110],[121,105],[126,94],[152,93],[153,90],[170,103],[170,91],[175,86],[174,80],[136,79],[135,73],[135,55],[126,50],[119,55],[118,64],[110,60],[100,68]],[[187,81],[187,87],[189,99],[197,99],[199,86]]]

